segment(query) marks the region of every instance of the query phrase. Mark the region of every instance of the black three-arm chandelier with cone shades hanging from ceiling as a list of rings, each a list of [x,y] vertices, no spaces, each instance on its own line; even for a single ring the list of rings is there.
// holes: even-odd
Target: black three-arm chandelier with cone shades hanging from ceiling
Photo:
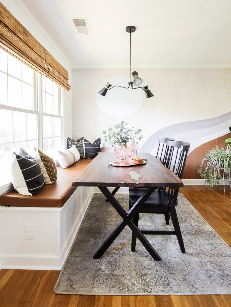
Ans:
[[[106,86],[102,88],[102,90],[98,91],[98,94],[105,96],[108,90],[111,90],[113,87],[123,87],[129,88],[130,85],[132,89],[142,88],[145,91],[146,98],[153,97],[153,94],[148,89],[148,84],[144,83],[144,80],[138,77],[138,72],[132,72],[132,48],[131,48],[131,33],[135,32],[136,27],[133,25],[129,25],[126,27],[126,32],[130,33],[130,81],[128,82],[128,87],[120,86],[120,85],[113,85],[110,82],[107,82]],[[133,81],[132,81],[133,77]]]

